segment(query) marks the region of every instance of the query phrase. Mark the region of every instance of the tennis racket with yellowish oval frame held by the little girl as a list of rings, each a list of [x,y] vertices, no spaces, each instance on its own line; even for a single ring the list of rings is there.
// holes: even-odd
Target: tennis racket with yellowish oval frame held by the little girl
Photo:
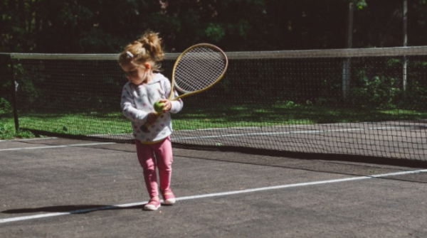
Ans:
[[[228,59],[223,51],[215,45],[201,43],[184,50],[174,64],[169,100],[175,101],[208,90],[226,73]],[[181,95],[172,99],[173,88]],[[161,114],[156,112],[157,115]],[[141,130],[149,132],[151,124],[141,126]]]

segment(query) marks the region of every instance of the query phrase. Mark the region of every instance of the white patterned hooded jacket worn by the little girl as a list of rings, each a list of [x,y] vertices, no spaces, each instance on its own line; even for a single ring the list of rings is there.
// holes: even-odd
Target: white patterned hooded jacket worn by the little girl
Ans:
[[[149,131],[142,130],[147,121],[147,115],[154,112],[153,104],[158,99],[167,99],[171,92],[171,83],[160,73],[154,73],[154,78],[147,84],[134,85],[132,82],[127,82],[122,90],[122,106],[123,115],[130,119],[132,123],[133,134],[135,139],[142,143],[152,143],[161,141],[172,134],[171,113],[180,112],[183,107],[181,99],[171,101],[172,108],[169,112],[161,114],[157,121],[149,127]],[[177,94],[174,92],[172,99]],[[145,132],[144,132],[145,131]]]

